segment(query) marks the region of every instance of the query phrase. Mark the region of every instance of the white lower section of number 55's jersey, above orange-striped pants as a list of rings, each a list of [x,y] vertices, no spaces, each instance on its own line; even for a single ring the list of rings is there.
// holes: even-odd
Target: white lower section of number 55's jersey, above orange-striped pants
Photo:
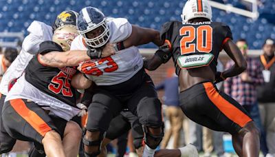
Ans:
[[[5,101],[16,98],[33,101],[37,105],[41,105],[43,109],[50,111],[49,115],[58,116],[66,121],[71,120],[80,112],[80,109],[72,107],[53,96],[41,92],[25,80],[25,74],[23,74],[23,76],[17,80],[17,83],[13,85],[8,95],[5,97]]]

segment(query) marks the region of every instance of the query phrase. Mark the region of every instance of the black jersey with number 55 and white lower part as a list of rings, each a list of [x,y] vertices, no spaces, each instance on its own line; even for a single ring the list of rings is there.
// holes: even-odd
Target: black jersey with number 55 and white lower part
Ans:
[[[49,48],[48,51],[63,51],[53,41],[44,41],[40,45],[42,47]],[[69,121],[80,112],[76,107],[75,89],[71,86],[76,67],[49,67],[39,62],[39,55],[30,60],[23,76],[14,84],[5,101],[27,99],[50,111],[50,115]]]

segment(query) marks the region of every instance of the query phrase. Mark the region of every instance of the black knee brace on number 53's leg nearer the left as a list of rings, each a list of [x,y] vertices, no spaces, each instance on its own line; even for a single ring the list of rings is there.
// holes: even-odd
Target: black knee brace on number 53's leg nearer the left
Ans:
[[[85,157],[96,157],[100,154],[102,140],[103,140],[106,132],[103,132],[103,133],[100,132],[98,140],[89,140],[89,139],[85,138],[86,131],[87,130],[85,129],[84,132],[83,132],[83,134],[84,134],[83,135],[83,145],[98,146],[98,151],[96,151],[94,153],[87,153],[85,151],[85,149],[83,149],[84,150],[84,155],[85,155]]]

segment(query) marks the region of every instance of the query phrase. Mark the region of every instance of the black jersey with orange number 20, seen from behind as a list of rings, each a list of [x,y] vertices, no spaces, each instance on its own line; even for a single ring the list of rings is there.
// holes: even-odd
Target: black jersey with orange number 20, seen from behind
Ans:
[[[228,25],[218,22],[182,23],[170,21],[162,25],[160,31],[162,41],[172,45],[173,61],[177,75],[180,67],[177,65],[177,58],[181,55],[205,54],[214,55],[210,67],[216,72],[219,52],[228,39],[232,39],[232,33]]]

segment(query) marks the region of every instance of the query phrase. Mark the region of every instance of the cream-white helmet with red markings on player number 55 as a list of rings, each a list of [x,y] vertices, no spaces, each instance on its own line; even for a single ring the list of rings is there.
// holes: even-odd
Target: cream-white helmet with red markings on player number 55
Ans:
[[[52,41],[61,45],[63,51],[68,51],[71,48],[72,41],[78,36],[76,25],[63,25],[54,31]]]

